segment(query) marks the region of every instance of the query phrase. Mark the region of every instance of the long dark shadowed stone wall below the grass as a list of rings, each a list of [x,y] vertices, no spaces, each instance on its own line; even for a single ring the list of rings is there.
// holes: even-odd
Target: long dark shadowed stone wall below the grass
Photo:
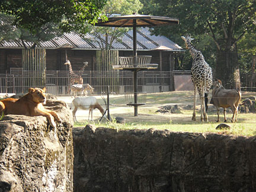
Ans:
[[[256,191],[256,138],[73,130],[74,191]]]

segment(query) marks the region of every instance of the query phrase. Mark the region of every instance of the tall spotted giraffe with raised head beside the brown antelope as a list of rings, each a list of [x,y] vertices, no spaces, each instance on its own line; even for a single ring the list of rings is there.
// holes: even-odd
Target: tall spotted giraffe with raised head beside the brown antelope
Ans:
[[[207,116],[207,102],[210,87],[212,86],[212,68],[204,60],[203,54],[196,50],[190,36],[181,36],[185,41],[186,49],[190,50],[190,54],[193,58],[191,67],[191,79],[194,85],[194,111],[192,120],[196,121],[196,89],[199,92],[200,104],[201,104],[201,121],[208,121]],[[204,105],[205,104],[205,105]]]

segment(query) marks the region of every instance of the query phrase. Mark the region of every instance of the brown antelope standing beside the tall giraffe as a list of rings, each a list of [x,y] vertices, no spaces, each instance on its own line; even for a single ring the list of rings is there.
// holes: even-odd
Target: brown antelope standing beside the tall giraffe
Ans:
[[[226,108],[231,107],[233,112],[233,117],[231,122],[237,121],[238,105],[241,101],[241,92],[236,89],[225,89],[222,86],[222,82],[219,79],[215,79],[213,82],[212,90],[212,100],[210,104],[215,105],[217,109],[217,122],[220,121],[219,118],[219,108],[224,108],[224,122],[226,122]]]

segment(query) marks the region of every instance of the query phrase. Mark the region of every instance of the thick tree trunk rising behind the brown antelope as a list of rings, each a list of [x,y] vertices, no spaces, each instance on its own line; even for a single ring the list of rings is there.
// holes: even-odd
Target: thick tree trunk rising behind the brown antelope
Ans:
[[[223,40],[219,40],[223,47]],[[228,44],[228,43],[227,43]],[[228,49],[217,49],[216,78],[223,82],[226,89],[241,89],[240,73],[238,66],[238,52],[235,47],[226,45]]]

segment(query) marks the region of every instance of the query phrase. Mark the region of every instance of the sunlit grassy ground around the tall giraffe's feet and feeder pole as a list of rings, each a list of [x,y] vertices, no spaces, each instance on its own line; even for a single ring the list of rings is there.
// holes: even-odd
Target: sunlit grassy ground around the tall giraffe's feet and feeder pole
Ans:
[[[242,92],[243,98],[255,96],[255,92]],[[96,127],[107,127],[116,130],[129,129],[159,129],[171,130],[173,132],[193,132],[193,133],[218,133],[237,136],[256,136],[256,114],[238,114],[238,123],[231,123],[232,114],[228,113],[228,123],[231,129],[216,130],[219,123],[216,123],[216,111],[208,114],[209,122],[201,122],[200,114],[197,112],[197,121],[191,121],[193,111],[181,110],[181,113],[156,113],[160,106],[168,104],[192,104],[193,91],[164,92],[148,94],[146,105],[139,107],[139,116],[133,116],[133,107],[125,105],[124,97],[120,95],[111,95],[110,111],[111,116],[123,117],[126,119],[125,124],[98,121],[76,122],[74,127],[84,127],[86,124],[94,124]],[[199,101],[197,100],[197,104]],[[125,106],[125,107],[124,107]],[[120,107],[121,110],[120,110]],[[223,114],[220,113],[220,121],[223,121]]]

